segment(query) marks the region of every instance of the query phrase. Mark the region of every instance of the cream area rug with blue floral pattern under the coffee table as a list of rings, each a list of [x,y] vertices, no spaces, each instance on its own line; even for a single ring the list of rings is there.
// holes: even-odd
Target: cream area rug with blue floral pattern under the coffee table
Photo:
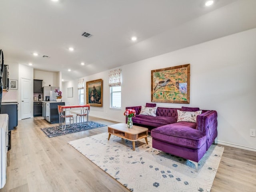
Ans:
[[[212,145],[200,160],[198,172],[184,158],[154,149],[152,138],[132,142],[102,133],[68,142],[86,158],[132,192],[209,192],[224,147]]]

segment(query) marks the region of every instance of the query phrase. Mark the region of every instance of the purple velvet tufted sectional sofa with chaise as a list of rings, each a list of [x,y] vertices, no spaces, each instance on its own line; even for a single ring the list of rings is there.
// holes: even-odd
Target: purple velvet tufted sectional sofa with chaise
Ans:
[[[156,104],[146,104],[146,107],[155,106]],[[214,110],[202,110],[202,114],[196,116],[196,122],[177,122],[177,110],[195,112],[199,108],[158,107],[154,117],[141,115],[141,107],[126,109],[136,110],[136,116],[132,117],[134,125],[149,128],[152,147],[158,150],[198,163],[217,137],[217,112]]]

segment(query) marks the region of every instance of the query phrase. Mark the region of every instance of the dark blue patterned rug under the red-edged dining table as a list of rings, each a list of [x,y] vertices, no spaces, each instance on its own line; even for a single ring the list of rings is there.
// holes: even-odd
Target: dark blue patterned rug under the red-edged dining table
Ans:
[[[89,121],[89,125],[85,124],[85,125],[80,126],[80,125],[74,124],[74,128],[63,130],[63,131],[59,130],[58,126],[41,128],[41,129],[48,137],[56,137],[56,136],[60,136],[60,135],[76,133],[76,132],[94,129],[94,128],[98,128],[98,127],[104,127],[104,126],[106,126],[106,125],[100,124],[100,123],[97,123],[94,121]]]

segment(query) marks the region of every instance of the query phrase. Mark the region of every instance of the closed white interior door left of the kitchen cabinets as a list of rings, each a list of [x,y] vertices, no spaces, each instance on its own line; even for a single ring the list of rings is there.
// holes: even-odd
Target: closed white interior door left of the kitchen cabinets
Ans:
[[[31,114],[31,79],[21,78],[21,119],[30,118]]]

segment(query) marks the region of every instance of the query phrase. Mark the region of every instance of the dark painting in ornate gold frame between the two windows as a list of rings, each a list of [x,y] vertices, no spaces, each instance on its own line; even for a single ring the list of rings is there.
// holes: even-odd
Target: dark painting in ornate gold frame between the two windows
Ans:
[[[86,103],[102,107],[102,79],[86,82]]]

